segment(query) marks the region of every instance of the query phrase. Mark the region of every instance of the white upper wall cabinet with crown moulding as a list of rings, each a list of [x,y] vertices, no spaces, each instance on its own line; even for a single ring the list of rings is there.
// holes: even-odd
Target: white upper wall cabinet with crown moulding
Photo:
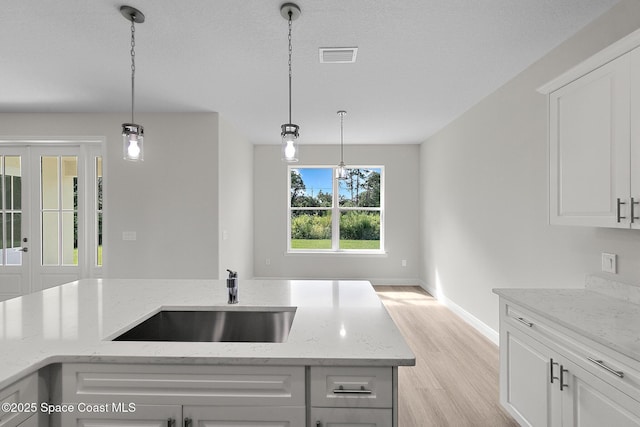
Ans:
[[[640,229],[640,31],[544,85],[549,222]]]

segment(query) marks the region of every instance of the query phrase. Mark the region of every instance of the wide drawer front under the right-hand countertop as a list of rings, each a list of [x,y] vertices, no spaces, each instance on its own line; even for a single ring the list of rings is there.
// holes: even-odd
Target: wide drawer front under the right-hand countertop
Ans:
[[[640,364],[626,356],[591,341],[586,337],[569,336],[528,310],[509,303],[504,307],[504,321],[530,337],[571,359],[586,371],[640,400]]]

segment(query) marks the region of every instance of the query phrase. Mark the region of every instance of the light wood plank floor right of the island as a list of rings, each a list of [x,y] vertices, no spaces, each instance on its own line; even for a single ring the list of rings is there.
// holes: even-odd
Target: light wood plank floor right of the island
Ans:
[[[376,286],[416,355],[398,369],[400,427],[517,426],[498,402],[498,347],[420,287]]]

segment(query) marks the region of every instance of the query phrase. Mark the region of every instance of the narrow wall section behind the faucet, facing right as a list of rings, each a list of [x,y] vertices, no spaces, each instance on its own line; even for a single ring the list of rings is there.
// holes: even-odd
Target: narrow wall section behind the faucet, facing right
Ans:
[[[224,119],[219,138],[219,278],[253,277],[253,145]]]

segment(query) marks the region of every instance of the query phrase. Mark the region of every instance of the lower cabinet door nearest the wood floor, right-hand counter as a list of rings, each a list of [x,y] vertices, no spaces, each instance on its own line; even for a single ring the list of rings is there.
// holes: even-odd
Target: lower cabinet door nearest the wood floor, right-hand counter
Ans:
[[[500,331],[500,403],[523,426],[558,426],[558,365],[549,348],[502,323]],[[553,374],[552,374],[553,368]]]

